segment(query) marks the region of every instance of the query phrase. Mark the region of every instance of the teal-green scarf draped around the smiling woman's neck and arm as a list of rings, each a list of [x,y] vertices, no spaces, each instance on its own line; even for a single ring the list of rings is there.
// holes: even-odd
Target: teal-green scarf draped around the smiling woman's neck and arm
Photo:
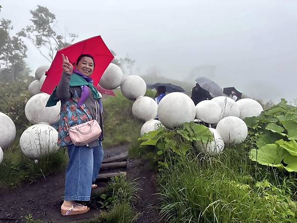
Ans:
[[[71,78],[70,78],[70,83],[69,83],[69,87],[77,87],[77,86],[82,86],[82,85],[87,85],[89,86],[89,88],[92,91],[93,94],[93,98],[95,99],[99,99],[101,98],[101,94],[97,91],[97,89],[94,87],[93,83],[89,83],[88,81],[86,81],[82,76],[76,74],[76,73],[72,73],[71,74]],[[57,104],[58,101],[60,101],[59,99],[57,99],[55,97],[55,92],[57,90],[58,86],[55,86],[55,88],[53,89],[53,92],[51,93],[49,100],[47,102],[46,107],[52,107],[55,106]]]

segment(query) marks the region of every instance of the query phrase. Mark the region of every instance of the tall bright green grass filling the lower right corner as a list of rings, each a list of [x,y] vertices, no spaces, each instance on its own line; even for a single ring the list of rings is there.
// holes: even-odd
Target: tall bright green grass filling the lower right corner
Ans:
[[[161,217],[174,223],[297,222],[296,181],[255,166],[244,148],[194,149],[158,175]]]

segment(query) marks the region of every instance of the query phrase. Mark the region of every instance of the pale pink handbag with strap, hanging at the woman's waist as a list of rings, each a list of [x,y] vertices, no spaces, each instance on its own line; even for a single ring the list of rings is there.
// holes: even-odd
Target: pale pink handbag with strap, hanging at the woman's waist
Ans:
[[[98,123],[98,115],[97,115],[97,103],[95,101],[96,106],[96,119],[72,126],[68,128],[66,123],[66,127],[70,136],[71,141],[75,146],[85,146],[90,142],[95,141],[99,138],[102,130]]]

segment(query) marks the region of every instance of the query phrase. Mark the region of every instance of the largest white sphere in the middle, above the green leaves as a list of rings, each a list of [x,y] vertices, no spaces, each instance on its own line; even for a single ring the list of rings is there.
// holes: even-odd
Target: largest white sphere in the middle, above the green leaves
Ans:
[[[195,104],[188,95],[172,92],[162,98],[157,114],[166,128],[181,127],[186,122],[194,121]]]

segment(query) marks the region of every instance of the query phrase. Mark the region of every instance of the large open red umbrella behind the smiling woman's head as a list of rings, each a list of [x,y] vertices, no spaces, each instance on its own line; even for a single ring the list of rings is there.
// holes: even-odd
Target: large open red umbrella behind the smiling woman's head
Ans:
[[[42,92],[51,94],[54,87],[58,85],[63,70],[61,54],[68,56],[71,63],[76,62],[77,57],[81,54],[94,56],[95,68],[91,76],[94,80],[94,86],[97,86],[103,72],[114,57],[100,36],[95,36],[58,50],[49,70],[46,72],[47,77],[41,87]]]

